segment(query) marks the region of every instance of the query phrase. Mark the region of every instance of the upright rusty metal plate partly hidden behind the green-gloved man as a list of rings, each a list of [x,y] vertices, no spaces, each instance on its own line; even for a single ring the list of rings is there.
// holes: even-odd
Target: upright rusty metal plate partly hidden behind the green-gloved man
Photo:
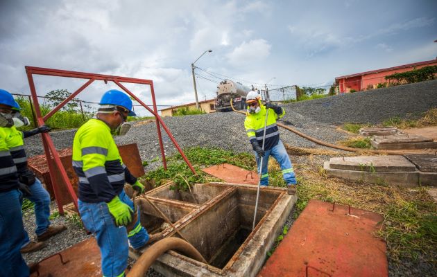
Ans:
[[[123,163],[129,168],[129,171],[135,177],[141,177],[145,174],[143,164],[141,158],[139,157],[139,151],[136,143],[128,144],[128,145],[119,145],[119,152]],[[74,172],[72,163],[71,163],[71,149],[67,148],[64,150],[60,150],[58,152],[60,156],[60,160],[62,162],[62,166],[64,166],[65,171],[67,171],[67,176],[71,182],[71,185],[78,194],[78,177],[76,172]],[[55,163],[53,159],[51,160],[53,163],[53,167],[55,167]],[[55,181],[52,182],[50,174],[49,174],[49,166],[46,161],[45,155],[39,155],[35,157],[31,157],[28,159],[28,167],[35,172],[38,178],[42,179],[44,184],[46,185],[46,189],[49,191],[52,198],[55,197],[53,193],[53,185],[55,185],[60,191],[60,199],[57,201],[62,204],[69,204],[73,201],[67,190],[67,186],[62,181],[60,173],[58,171],[55,172]],[[54,183],[54,184],[53,184]]]

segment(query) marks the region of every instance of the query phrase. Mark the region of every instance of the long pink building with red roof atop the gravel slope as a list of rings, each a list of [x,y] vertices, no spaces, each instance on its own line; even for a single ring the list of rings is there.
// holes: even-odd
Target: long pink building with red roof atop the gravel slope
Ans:
[[[350,92],[351,89],[355,91],[363,91],[365,89],[375,89],[377,84],[384,84],[387,82],[385,77],[393,73],[401,73],[411,71],[413,69],[420,69],[425,66],[437,65],[436,60],[429,60],[425,62],[415,62],[413,64],[404,64],[400,66],[388,67],[387,69],[377,69],[366,71],[351,75],[344,75],[335,78],[336,87],[339,92]]]

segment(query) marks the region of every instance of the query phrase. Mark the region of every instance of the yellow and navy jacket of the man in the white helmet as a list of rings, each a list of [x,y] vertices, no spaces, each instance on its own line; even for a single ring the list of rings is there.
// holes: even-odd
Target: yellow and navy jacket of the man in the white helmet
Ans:
[[[246,112],[246,120],[244,120],[244,127],[249,141],[256,140],[259,146],[262,146],[262,138],[264,136],[264,123],[266,123],[266,107],[260,104],[261,111],[257,114],[250,114]],[[271,150],[279,142],[279,129],[276,125],[277,118],[282,118],[285,114],[284,108],[282,114],[276,114],[273,109],[268,109],[268,118],[266,124],[266,141],[264,143],[264,150]]]

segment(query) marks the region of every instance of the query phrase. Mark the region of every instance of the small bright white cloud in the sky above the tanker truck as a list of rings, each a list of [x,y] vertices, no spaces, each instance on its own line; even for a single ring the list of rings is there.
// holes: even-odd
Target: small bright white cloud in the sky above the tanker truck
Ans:
[[[243,42],[227,55],[228,62],[234,66],[255,65],[270,55],[270,49],[265,39]]]

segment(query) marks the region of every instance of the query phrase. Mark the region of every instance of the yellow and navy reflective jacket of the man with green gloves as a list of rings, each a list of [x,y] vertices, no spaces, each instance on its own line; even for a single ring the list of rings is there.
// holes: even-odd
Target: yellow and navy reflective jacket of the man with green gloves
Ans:
[[[83,202],[110,202],[121,193],[125,180],[134,184],[123,165],[110,127],[99,119],[82,125],[73,141],[73,168],[79,177],[79,199]]]

